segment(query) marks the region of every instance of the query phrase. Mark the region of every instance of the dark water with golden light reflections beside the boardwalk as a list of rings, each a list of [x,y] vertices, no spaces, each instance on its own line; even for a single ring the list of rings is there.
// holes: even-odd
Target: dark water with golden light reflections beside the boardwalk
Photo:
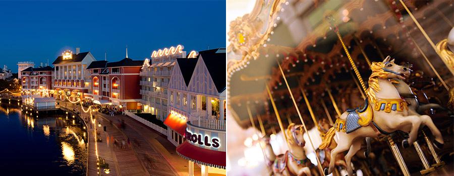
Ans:
[[[71,116],[36,118],[2,105],[0,175],[85,175],[88,134],[77,123]]]

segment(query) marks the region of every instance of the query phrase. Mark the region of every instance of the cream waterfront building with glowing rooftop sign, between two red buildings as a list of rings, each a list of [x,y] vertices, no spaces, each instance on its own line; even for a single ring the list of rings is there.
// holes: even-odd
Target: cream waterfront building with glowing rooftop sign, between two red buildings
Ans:
[[[64,96],[75,100],[77,97],[83,98],[88,93],[90,87],[87,66],[96,59],[90,52],[80,53],[76,48],[76,53],[66,50],[61,56],[53,61],[55,97],[64,99]]]

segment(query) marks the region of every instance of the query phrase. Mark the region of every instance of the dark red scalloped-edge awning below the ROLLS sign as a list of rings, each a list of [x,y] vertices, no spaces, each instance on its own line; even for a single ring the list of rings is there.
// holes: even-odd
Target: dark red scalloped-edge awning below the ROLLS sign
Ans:
[[[200,148],[185,141],[177,147],[177,153],[196,163],[225,169],[225,152],[223,151]]]

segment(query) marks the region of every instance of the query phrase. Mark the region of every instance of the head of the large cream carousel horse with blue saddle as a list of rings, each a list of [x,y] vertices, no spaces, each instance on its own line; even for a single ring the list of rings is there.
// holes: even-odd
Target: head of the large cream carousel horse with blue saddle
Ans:
[[[411,64],[399,65],[394,63],[394,59],[391,60],[391,57],[386,57],[383,62],[381,62],[382,70],[387,72],[387,78],[399,78],[406,79],[410,76],[411,69],[409,68]]]

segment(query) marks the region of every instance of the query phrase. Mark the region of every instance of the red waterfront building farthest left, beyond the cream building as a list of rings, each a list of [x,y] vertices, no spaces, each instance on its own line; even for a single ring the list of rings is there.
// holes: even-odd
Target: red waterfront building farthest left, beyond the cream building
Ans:
[[[21,85],[23,91],[52,90],[52,74],[54,68],[51,66],[28,67],[22,70]]]

